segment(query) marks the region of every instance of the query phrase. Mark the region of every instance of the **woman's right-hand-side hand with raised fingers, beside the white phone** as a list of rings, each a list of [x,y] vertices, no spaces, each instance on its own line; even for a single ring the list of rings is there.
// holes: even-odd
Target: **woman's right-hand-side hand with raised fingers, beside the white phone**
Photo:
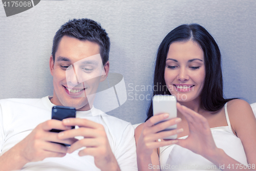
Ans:
[[[179,103],[177,109],[187,120],[189,134],[186,139],[178,139],[176,144],[203,157],[216,154],[219,149],[214,142],[207,119]]]

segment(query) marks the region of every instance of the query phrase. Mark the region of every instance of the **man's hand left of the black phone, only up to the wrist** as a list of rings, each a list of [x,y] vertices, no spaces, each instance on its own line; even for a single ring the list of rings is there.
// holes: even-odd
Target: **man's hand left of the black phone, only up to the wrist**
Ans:
[[[28,162],[44,160],[47,157],[65,156],[68,148],[53,142],[71,144],[75,140],[60,140],[57,133],[49,132],[51,129],[69,130],[71,127],[66,127],[61,121],[55,119],[39,124],[24,140],[17,144],[22,150],[20,155],[26,158]]]

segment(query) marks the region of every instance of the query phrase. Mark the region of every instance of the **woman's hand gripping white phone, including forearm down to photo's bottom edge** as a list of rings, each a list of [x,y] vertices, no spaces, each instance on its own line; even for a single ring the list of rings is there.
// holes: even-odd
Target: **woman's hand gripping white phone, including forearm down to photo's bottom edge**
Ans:
[[[135,129],[138,170],[160,170],[158,169],[160,168],[160,164],[157,148],[177,142],[177,140],[166,140],[158,142],[158,139],[165,138],[170,135],[175,135],[183,131],[183,129],[162,131],[169,126],[179,123],[181,118],[166,120],[156,125],[156,123],[167,118],[168,116],[169,114],[167,113],[152,116],[145,123],[139,125]],[[154,166],[155,168],[150,168],[150,165]]]

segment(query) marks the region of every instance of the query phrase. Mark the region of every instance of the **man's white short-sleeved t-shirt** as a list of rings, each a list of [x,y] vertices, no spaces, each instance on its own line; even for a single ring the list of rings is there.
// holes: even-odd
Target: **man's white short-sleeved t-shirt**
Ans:
[[[24,139],[38,124],[51,119],[54,105],[49,97],[42,99],[0,100],[0,155]],[[93,113],[93,115],[92,115]],[[92,108],[77,111],[76,117],[86,118],[104,126],[113,154],[121,170],[138,170],[134,129],[130,123]],[[96,116],[95,116],[96,115]],[[15,164],[15,163],[13,163]],[[65,157],[50,157],[27,163],[23,170],[100,170],[93,156],[78,156],[78,151]]]

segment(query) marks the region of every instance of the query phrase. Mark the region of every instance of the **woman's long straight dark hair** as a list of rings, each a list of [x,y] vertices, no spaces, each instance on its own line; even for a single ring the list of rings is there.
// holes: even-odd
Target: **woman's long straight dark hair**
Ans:
[[[207,111],[217,111],[232,99],[225,99],[223,97],[221,53],[219,46],[206,29],[198,24],[181,25],[169,32],[161,42],[157,52],[154,73],[154,87],[157,86],[158,88],[156,91],[153,91],[153,96],[156,94],[170,95],[164,80],[165,62],[169,46],[173,42],[185,42],[188,40],[197,42],[204,52],[205,80],[201,92],[201,107]],[[148,108],[147,119],[151,116],[153,116],[152,101]]]

